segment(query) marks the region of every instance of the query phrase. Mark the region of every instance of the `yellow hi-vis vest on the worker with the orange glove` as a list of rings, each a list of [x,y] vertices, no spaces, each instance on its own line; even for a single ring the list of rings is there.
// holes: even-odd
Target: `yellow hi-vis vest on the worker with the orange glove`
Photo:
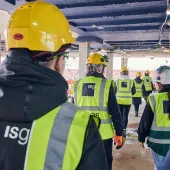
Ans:
[[[112,118],[107,107],[111,84],[111,80],[87,76],[74,85],[75,104],[101,119],[99,131],[103,140],[114,136]]]

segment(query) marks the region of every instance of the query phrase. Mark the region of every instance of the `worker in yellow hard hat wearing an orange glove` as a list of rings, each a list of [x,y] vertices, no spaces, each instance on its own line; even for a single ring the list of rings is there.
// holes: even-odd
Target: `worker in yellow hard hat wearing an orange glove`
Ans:
[[[123,145],[122,119],[116,102],[112,80],[107,80],[103,73],[108,57],[100,52],[87,58],[87,74],[76,81],[73,87],[74,102],[90,115],[99,117],[99,128],[103,139],[109,170],[112,169],[112,138],[117,149]],[[114,126],[114,127],[113,127]],[[115,129],[115,136],[114,136]]]

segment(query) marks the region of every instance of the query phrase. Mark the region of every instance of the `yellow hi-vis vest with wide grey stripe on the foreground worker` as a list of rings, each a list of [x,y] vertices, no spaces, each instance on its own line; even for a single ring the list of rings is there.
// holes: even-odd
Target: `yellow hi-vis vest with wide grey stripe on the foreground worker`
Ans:
[[[83,110],[65,103],[35,120],[24,170],[75,170],[82,156],[89,119],[90,115]]]

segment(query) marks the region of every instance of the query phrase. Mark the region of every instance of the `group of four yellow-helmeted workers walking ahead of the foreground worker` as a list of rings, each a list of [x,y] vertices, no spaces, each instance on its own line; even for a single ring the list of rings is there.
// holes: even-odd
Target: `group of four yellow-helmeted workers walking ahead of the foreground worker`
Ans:
[[[149,93],[152,93],[153,84],[151,77],[149,77],[149,71],[145,72],[143,80],[140,72],[137,72],[135,80],[131,80],[126,67],[121,69],[120,78],[116,82],[107,80],[104,77],[107,62],[109,62],[109,58],[106,55],[101,55],[100,52],[91,54],[87,58],[87,74],[74,83],[72,92],[74,104],[89,112],[90,115],[100,118],[99,131],[105,147],[109,169],[111,169],[112,138],[114,137],[114,143],[117,143],[116,148],[121,148],[123,139],[126,138],[132,99],[136,116],[138,116],[141,98],[143,94],[147,98]]]

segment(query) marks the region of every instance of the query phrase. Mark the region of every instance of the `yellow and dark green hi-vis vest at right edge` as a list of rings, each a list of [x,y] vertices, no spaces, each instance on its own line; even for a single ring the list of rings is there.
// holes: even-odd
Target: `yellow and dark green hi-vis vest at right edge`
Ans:
[[[166,156],[170,146],[170,119],[168,113],[168,92],[148,98],[154,119],[148,138],[148,146],[156,153]]]

